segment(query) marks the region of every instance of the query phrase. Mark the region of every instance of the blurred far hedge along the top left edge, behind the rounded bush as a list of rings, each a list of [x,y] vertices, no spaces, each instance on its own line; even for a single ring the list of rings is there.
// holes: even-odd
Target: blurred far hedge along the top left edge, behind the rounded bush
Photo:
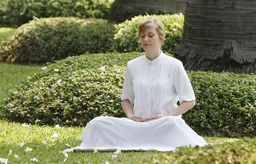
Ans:
[[[6,0],[2,13],[5,22],[13,27],[28,23],[33,16],[108,19],[113,2],[114,0]]]

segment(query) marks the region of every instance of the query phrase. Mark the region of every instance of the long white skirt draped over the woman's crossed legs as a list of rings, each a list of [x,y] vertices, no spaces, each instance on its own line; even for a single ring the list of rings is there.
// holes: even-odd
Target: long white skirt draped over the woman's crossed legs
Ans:
[[[204,146],[207,142],[180,117],[163,117],[150,122],[128,118],[95,117],[85,127],[82,144],[74,149],[120,149],[173,151],[181,146]]]

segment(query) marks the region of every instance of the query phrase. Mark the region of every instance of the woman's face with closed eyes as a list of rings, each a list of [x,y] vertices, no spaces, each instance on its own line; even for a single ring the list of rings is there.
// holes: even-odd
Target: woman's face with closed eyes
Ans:
[[[143,33],[140,33],[140,42],[144,51],[154,51],[160,48],[161,38],[155,27],[149,26]]]

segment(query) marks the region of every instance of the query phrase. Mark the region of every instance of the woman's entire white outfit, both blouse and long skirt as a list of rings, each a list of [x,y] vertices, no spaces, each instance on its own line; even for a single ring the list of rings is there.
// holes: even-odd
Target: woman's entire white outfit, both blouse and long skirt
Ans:
[[[161,51],[152,61],[143,55],[128,62],[121,96],[121,100],[125,99],[133,102],[133,113],[138,116],[166,116],[178,107],[178,101],[192,101],[195,94],[182,62]],[[87,123],[81,139],[79,147],[66,152],[74,149],[172,151],[181,146],[207,145],[181,116],[150,122],[96,117]]]

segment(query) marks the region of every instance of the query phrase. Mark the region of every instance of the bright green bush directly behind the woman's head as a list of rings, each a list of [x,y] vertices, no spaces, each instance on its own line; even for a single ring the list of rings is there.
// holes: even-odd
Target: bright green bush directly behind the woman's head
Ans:
[[[116,34],[114,39],[118,52],[143,51],[140,48],[141,46],[138,46],[139,38],[136,36],[136,33],[138,32],[140,22],[148,16],[158,18],[165,26],[166,36],[162,50],[170,52],[172,48],[180,44],[184,22],[184,15],[182,13],[173,15],[140,15],[115,26]]]

